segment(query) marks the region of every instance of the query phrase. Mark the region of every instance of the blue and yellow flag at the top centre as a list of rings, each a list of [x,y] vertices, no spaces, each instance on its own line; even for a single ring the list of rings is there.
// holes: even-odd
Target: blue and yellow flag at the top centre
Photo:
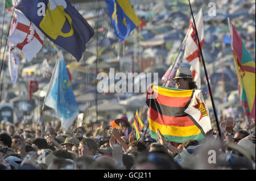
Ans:
[[[126,39],[131,31],[136,28],[140,22],[137,15],[133,11],[129,0],[105,0],[112,26],[117,35],[117,39],[121,42]]]

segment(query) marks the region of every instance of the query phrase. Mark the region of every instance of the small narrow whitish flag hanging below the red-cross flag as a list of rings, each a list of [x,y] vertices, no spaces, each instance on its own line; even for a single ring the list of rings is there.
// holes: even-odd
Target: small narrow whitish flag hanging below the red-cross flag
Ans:
[[[16,83],[18,79],[18,68],[19,68],[19,57],[16,56],[14,52],[14,48],[10,47],[9,48],[9,60],[8,60],[8,67],[9,67],[9,73],[11,77],[11,82],[13,84]]]

